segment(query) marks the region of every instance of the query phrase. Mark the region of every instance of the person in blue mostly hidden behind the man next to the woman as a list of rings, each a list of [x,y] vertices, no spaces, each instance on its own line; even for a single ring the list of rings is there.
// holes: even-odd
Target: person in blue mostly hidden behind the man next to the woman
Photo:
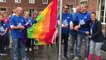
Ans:
[[[74,27],[78,25],[78,21],[76,20],[77,14],[80,13],[80,6],[76,6],[76,12],[73,13],[73,20],[70,21],[70,55],[73,56],[74,52],[76,54],[76,48],[74,49],[75,45],[77,46],[77,31],[74,30]]]

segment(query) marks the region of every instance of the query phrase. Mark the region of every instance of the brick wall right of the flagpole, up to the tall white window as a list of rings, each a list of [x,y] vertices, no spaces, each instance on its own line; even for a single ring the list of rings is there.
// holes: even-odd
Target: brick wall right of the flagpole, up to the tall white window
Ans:
[[[88,4],[89,11],[96,11],[98,4],[97,3],[98,0],[63,0],[63,1],[64,1],[63,4],[69,4],[71,8],[80,4]]]

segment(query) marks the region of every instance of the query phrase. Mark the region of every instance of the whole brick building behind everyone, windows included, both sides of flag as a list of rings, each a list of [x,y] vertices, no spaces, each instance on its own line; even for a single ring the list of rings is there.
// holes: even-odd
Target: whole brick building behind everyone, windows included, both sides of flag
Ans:
[[[34,10],[43,10],[51,0],[0,0],[0,11],[12,12],[17,6],[33,13]],[[96,11],[97,17],[106,23],[106,0],[63,0],[63,5],[69,4],[73,8],[79,4],[88,4],[89,11]]]

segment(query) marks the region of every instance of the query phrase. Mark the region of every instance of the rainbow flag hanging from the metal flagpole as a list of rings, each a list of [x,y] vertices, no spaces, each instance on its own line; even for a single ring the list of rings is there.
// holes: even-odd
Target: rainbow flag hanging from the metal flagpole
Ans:
[[[35,39],[35,45],[53,44],[56,36],[57,3],[52,0],[50,4],[37,17],[37,23],[27,29],[28,38]]]

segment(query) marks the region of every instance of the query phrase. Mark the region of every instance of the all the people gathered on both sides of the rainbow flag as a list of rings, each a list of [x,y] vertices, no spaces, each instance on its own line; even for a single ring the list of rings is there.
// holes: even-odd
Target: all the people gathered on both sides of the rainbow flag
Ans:
[[[94,51],[96,60],[102,60],[100,48],[104,36],[102,34],[102,25],[96,19],[95,12],[88,12],[87,5],[76,6],[76,12],[69,12],[69,5],[63,7],[62,13],[62,42],[64,42],[64,57],[68,60],[67,51],[70,45],[70,55],[75,56],[73,60],[80,60],[82,41],[85,43],[84,60],[93,60]],[[22,7],[13,9],[10,16],[6,12],[0,12],[0,55],[5,56],[5,48],[9,49],[10,35],[13,41],[14,60],[19,59],[19,50],[21,50],[22,60],[28,60],[26,51],[32,51],[34,40],[27,38],[27,28],[31,27],[39,15],[35,11],[31,16],[28,11],[23,11]],[[60,25],[60,15],[58,16],[58,26]],[[10,33],[11,32],[11,33]],[[70,37],[70,44],[68,40]],[[57,39],[58,40],[58,39]],[[58,44],[58,41],[57,41]],[[95,48],[95,50],[94,50]]]

